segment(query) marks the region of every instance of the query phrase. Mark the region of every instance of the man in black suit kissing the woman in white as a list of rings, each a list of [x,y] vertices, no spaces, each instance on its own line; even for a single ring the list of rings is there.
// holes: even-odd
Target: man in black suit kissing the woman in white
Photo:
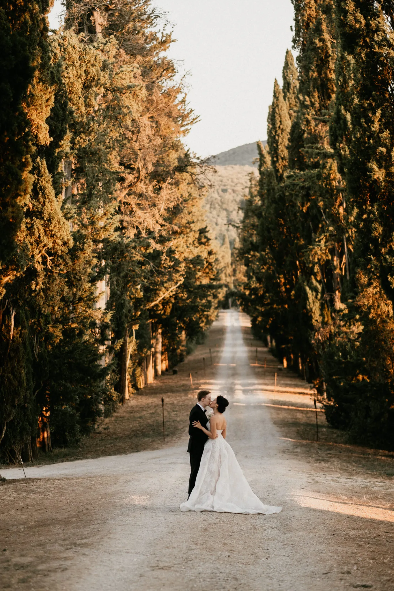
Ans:
[[[189,496],[191,491],[194,489],[196,484],[197,472],[200,468],[201,457],[204,451],[204,445],[208,439],[208,436],[193,427],[193,421],[200,421],[203,427],[207,424],[207,415],[205,409],[209,407],[211,402],[211,393],[209,390],[200,390],[197,394],[197,404],[190,411],[189,417],[189,444],[187,451],[190,454],[190,479],[189,479]]]

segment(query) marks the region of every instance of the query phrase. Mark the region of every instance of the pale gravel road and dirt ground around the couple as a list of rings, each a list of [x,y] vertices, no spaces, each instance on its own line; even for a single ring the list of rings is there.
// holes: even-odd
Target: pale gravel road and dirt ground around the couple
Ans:
[[[305,383],[276,369],[272,391],[275,362],[260,345],[259,363],[272,368],[250,365],[258,343],[244,314],[220,313],[219,329],[217,372],[198,387],[229,397],[227,440],[253,490],[281,514],[181,513],[185,436],[158,450],[28,467],[29,480],[0,486],[1,589],[394,590],[392,454],[324,443],[323,413],[323,443],[305,447],[297,423],[313,433],[311,399],[283,391]]]

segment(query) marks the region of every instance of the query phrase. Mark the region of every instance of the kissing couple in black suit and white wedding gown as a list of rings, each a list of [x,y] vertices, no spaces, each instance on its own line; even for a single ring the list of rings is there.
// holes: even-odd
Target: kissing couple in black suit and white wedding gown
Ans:
[[[252,491],[226,441],[228,405],[223,396],[211,400],[209,390],[197,394],[189,417],[189,496],[181,511],[279,513],[282,507],[264,505]]]

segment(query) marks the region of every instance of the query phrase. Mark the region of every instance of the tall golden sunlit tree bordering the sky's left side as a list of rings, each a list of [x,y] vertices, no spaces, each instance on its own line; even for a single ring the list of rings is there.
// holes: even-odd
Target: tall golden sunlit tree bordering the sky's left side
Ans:
[[[102,53],[109,72],[95,113],[104,142],[100,158],[92,158],[92,176],[86,166],[90,154],[80,151],[77,161],[84,193],[93,193],[102,175],[102,167],[96,167],[95,178],[95,162],[104,154],[108,161],[109,182],[101,183],[100,197],[108,203],[109,216],[102,217],[109,220],[109,233],[100,243],[110,275],[113,340],[121,343],[115,352],[116,389],[125,400],[133,373],[129,363],[136,362],[133,352],[142,363],[145,357],[151,363],[155,332],[161,330],[158,318],[154,320],[155,303],[170,303],[185,281],[187,252],[174,241],[174,233],[178,216],[187,210],[190,182],[185,178],[197,178],[180,141],[193,114],[184,97],[179,99],[183,89],[174,83],[174,64],[164,53],[171,36],[154,31],[157,14],[149,2],[122,1],[99,14],[78,2],[67,8],[67,26]],[[197,189],[196,181],[191,184]],[[166,243],[172,244],[170,252]],[[182,332],[179,319],[174,322]],[[164,332],[162,342],[167,340]]]

